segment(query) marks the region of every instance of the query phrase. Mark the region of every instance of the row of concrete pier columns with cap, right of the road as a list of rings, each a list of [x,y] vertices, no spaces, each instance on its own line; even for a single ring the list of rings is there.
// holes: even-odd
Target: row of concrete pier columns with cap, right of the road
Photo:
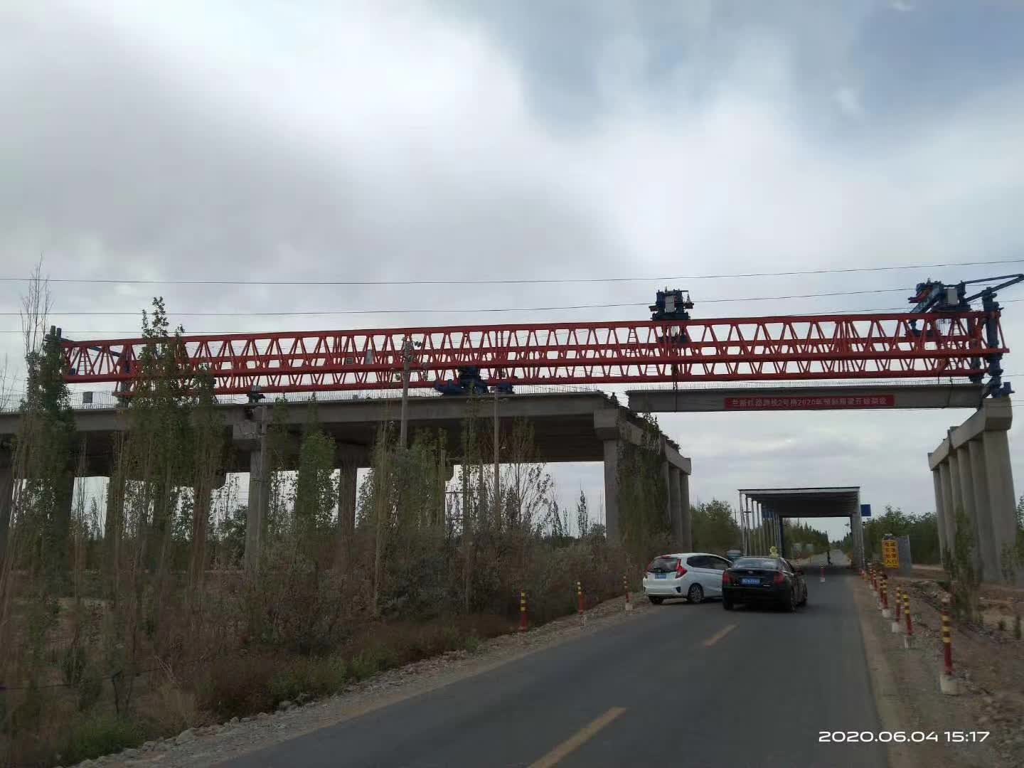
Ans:
[[[928,455],[943,558],[955,551],[956,514],[963,512],[984,582],[1000,582],[1014,569],[1017,499],[1007,436],[1012,424],[1010,398],[988,398]],[[1014,581],[1024,585],[1024,571],[1018,569]]]

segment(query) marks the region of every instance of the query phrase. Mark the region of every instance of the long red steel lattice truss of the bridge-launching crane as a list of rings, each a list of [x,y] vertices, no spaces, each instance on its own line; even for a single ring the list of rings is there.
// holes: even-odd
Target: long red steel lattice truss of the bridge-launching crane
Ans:
[[[392,389],[401,347],[420,344],[410,386],[478,366],[490,381],[626,384],[968,377],[1009,351],[985,344],[984,312],[835,314],[678,323],[544,323],[184,337],[187,368],[216,391]],[[998,317],[996,316],[996,322]],[[918,326],[916,331],[911,323]],[[685,333],[686,343],[672,337]],[[130,393],[141,339],[66,341],[70,383],[121,383]],[[975,367],[972,367],[974,361]]]

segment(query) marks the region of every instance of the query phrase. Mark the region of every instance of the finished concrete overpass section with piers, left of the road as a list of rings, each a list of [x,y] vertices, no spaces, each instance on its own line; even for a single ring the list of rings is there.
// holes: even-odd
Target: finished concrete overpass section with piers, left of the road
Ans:
[[[471,407],[472,402],[472,407]],[[224,472],[249,473],[248,542],[255,543],[260,520],[267,512],[269,472],[264,470],[266,426],[272,407],[225,403],[218,407],[224,423],[228,452]],[[475,411],[474,411],[475,409]],[[350,530],[355,522],[356,472],[371,465],[374,440],[380,427],[397,422],[400,400],[395,397],[350,398],[316,401],[317,419],[338,446],[336,461],[340,470],[339,529]],[[407,423],[410,433],[419,429],[439,431],[446,443],[446,454],[455,463],[462,461],[462,429],[467,417],[493,423],[508,433],[515,420],[526,421],[534,429],[540,459],[549,463],[602,462],[604,464],[605,523],[609,537],[618,536],[618,456],[624,444],[639,445],[650,430],[636,413],[616,404],[601,392],[517,393],[475,398],[460,396],[412,396],[408,400]],[[11,508],[11,441],[17,433],[16,413],[0,414],[0,526],[9,519]],[[115,466],[115,441],[128,429],[128,415],[118,408],[76,410],[75,421],[84,445],[80,470],[83,476],[112,477]],[[304,401],[288,409],[287,423],[296,441],[307,421]],[[667,486],[666,519],[680,547],[692,547],[690,525],[689,476],[691,462],[682,456],[678,443],[664,433],[655,437],[663,457],[663,478]],[[122,499],[108,494],[108,519],[120,510],[112,509]],[[69,499],[70,505],[70,499]],[[70,514],[70,508],[69,508]],[[255,548],[253,548],[255,549]]]

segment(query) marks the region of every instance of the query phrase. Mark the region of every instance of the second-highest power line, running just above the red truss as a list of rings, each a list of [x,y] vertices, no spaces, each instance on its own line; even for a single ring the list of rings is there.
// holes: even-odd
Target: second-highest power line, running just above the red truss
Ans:
[[[737,301],[778,301],[782,299],[813,299],[825,296],[863,296],[879,293],[905,293],[912,291],[912,288],[882,288],[867,291],[835,291],[833,293],[804,293],[792,296],[748,296],[745,298],[733,299],[700,299],[699,304],[724,304]],[[289,311],[259,311],[259,312],[168,312],[169,315],[180,315],[185,317],[289,317],[301,315],[330,315],[330,314],[465,314],[473,312],[548,312],[555,310],[574,309],[610,309],[633,306],[649,306],[649,301],[631,301],[617,304],[571,304],[567,306],[512,306],[512,307],[485,307],[485,308],[465,308],[465,307],[431,307],[425,309],[325,309],[323,311],[313,310],[289,310]],[[131,316],[137,317],[141,310],[135,312],[104,312],[89,310],[83,312],[48,312],[50,317],[85,317],[85,316]],[[20,312],[0,312],[0,316],[18,316]]]

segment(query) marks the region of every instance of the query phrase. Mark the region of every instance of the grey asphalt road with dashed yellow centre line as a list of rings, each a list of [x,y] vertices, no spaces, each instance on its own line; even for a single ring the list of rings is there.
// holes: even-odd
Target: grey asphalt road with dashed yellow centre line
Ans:
[[[666,603],[355,720],[226,763],[256,766],[885,766],[846,582],[796,613]]]

